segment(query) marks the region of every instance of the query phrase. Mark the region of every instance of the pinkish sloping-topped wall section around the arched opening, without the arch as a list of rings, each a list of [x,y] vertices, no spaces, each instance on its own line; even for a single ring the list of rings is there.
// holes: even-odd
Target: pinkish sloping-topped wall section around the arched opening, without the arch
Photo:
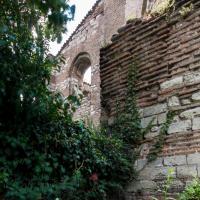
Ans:
[[[73,62],[81,53],[87,53],[91,62],[91,87],[87,96],[83,98],[82,105],[75,113],[75,119],[83,119],[83,115],[92,118],[94,123],[100,118],[100,75],[99,75],[99,49],[104,41],[104,2],[97,1],[72,36],[66,41],[59,52],[66,63],[59,73],[54,74],[55,90],[60,90],[64,96],[71,94],[74,84]],[[79,87],[79,86],[78,86]],[[87,100],[89,102],[87,102]]]

